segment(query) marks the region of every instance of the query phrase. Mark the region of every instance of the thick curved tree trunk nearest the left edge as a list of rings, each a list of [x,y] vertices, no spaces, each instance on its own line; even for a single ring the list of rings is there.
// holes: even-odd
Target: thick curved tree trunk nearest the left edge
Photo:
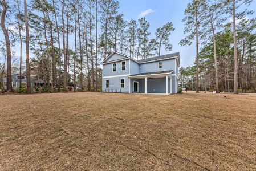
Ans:
[[[11,44],[9,39],[8,30],[5,27],[5,15],[7,11],[7,4],[5,0],[2,0],[2,12],[1,12],[1,27],[3,30],[3,35],[5,35],[5,43],[6,43],[6,55],[7,55],[7,91],[13,91],[13,87],[11,85]]]

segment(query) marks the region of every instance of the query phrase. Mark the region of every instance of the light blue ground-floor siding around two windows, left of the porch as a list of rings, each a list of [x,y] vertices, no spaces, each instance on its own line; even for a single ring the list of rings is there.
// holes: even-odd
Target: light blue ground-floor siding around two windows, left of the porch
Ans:
[[[124,79],[124,88],[121,88],[121,79]],[[103,78],[102,91],[103,92],[124,92],[129,93],[129,79],[127,76],[115,77],[115,78]],[[106,80],[109,80],[109,88],[106,88]]]

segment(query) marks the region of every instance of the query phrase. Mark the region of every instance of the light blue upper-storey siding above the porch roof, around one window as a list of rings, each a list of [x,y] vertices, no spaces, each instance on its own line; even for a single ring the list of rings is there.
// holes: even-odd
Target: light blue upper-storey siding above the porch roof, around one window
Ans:
[[[168,59],[168,60],[161,60],[161,61],[162,61],[162,69],[159,69],[159,61],[140,64],[140,73],[168,71],[168,70],[174,70],[173,72],[175,72],[175,62],[176,62],[175,59]]]

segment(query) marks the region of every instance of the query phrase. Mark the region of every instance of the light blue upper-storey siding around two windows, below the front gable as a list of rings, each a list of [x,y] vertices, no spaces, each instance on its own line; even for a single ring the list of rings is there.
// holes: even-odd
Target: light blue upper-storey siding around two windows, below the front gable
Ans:
[[[113,71],[113,63],[103,64],[103,76],[113,75],[125,75],[129,74],[129,60],[123,60],[126,62],[125,70],[122,70],[122,61],[116,63],[116,71]]]

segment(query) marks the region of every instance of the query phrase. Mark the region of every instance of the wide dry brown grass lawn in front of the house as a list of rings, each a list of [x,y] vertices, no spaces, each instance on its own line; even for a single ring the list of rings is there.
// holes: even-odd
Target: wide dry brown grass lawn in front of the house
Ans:
[[[256,95],[0,96],[0,170],[254,170]]]

